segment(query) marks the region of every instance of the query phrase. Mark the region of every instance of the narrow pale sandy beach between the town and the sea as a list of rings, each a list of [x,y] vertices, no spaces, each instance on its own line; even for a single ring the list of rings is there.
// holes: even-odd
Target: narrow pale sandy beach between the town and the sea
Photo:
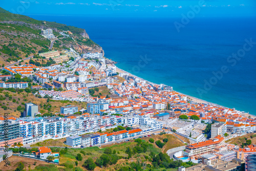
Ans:
[[[118,67],[117,67],[116,65],[114,65],[113,63],[111,63],[111,64],[109,64],[109,65],[115,66],[115,67],[116,67],[116,72],[118,72],[118,73],[127,73],[127,74],[129,74],[130,76],[137,77],[137,78],[140,78],[140,79],[142,79],[142,80],[145,80],[145,79],[143,79],[143,78],[141,78],[141,77],[138,77],[138,76],[136,76],[136,75],[134,75],[134,74],[131,74],[131,73],[127,72],[127,71],[124,71],[124,70],[118,68]],[[148,80],[145,80],[145,81],[150,82],[150,83],[153,83],[153,84],[157,84],[157,83],[154,83],[154,82],[151,82],[151,81],[148,81]],[[177,92],[177,91],[175,91],[175,92]],[[213,106],[217,106],[217,107],[219,107],[219,108],[231,109],[231,108],[227,108],[227,107],[225,107],[225,106],[223,106],[223,105],[219,105],[219,104],[212,103],[212,102],[209,102],[209,101],[206,101],[206,100],[202,100],[202,99],[199,99],[199,98],[197,98],[197,97],[193,97],[193,96],[190,96],[190,95],[187,95],[187,94],[184,94],[184,93],[180,93],[180,92],[177,92],[177,93],[187,96],[188,98],[192,99],[191,101],[196,102],[196,103],[210,104],[210,105],[213,105]],[[240,111],[240,112],[241,112],[241,111]],[[249,113],[244,113],[244,114],[240,114],[240,115],[243,116],[243,117],[246,117],[246,118],[248,118],[248,117],[250,116],[250,119],[256,119],[256,116],[254,116],[254,115],[252,115],[252,114],[249,114]]]

